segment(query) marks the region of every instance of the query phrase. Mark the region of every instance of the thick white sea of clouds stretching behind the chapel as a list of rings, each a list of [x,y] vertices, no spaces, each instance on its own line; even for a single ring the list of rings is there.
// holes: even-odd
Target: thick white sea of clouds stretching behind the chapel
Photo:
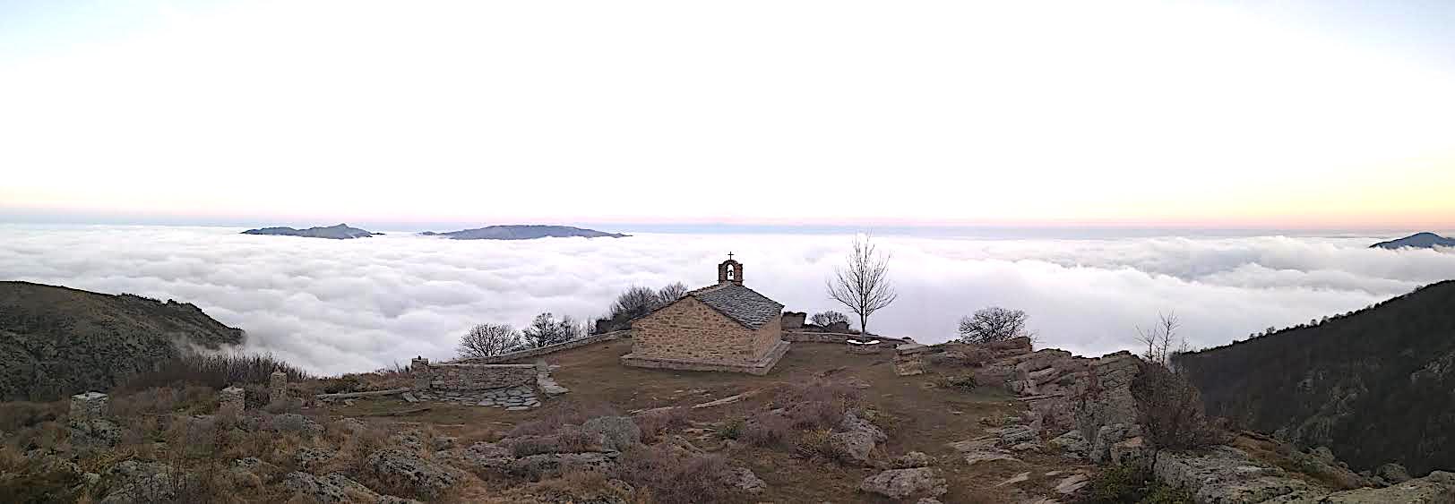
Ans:
[[[540,312],[597,317],[631,285],[716,282],[732,251],[746,285],[792,311],[838,309],[825,280],[851,235],[637,234],[457,241],[242,235],[242,228],[0,225],[0,280],[129,292],[201,306],[320,373],[448,359],[477,322]],[[872,331],[922,343],[962,315],[1024,309],[1042,346],[1135,347],[1136,327],[1176,312],[1195,347],[1359,309],[1455,279],[1455,253],[1371,250],[1391,237],[995,240],[882,235],[899,299]]]

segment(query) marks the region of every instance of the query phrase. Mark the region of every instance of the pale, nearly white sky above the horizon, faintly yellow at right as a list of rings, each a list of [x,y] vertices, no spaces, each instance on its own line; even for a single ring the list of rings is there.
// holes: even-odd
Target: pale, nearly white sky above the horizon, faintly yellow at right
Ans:
[[[1455,228],[1448,1],[4,1],[0,221]]]

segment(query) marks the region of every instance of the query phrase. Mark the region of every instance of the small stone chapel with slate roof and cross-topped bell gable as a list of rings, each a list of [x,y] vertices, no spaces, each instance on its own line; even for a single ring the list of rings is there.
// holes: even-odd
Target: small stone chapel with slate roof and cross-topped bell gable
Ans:
[[[783,305],[742,280],[742,263],[729,254],[717,264],[717,285],[631,321],[631,353],[621,363],[767,375],[789,351]]]

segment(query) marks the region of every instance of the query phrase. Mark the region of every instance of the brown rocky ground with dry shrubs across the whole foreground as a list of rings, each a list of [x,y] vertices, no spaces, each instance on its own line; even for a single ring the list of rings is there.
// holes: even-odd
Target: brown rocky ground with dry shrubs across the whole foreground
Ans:
[[[771,375],[751,376],[620,366],[629,349],[607,341],[546,356],[570,391],[559,397],[412,392],[234,412],[218,410],[215,391],[178,386],[118,394],[95,417],[68,404],[4,404],[0,494],[35,503],[1049,504],[1126,501],[1123,487],[1141,485],[1160,503],[1455,495],[1449,473],[1358,475],[1327,452],[1256,434],[1154,450],[1129,389],[1138,360],[1125,353],[1081,359],[1016,340],[851,354],[796,343]],[[290,388],[301,398],[319,385]],[[1148,489],[1126,469],[1135,466],[1168,485]]]

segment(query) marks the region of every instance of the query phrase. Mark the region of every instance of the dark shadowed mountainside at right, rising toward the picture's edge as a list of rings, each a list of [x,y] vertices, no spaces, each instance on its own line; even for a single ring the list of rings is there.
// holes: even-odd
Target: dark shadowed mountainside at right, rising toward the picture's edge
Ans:
[[[1211,414],[1368,469],[1455,468],[1455,280],[1179,359]]]

